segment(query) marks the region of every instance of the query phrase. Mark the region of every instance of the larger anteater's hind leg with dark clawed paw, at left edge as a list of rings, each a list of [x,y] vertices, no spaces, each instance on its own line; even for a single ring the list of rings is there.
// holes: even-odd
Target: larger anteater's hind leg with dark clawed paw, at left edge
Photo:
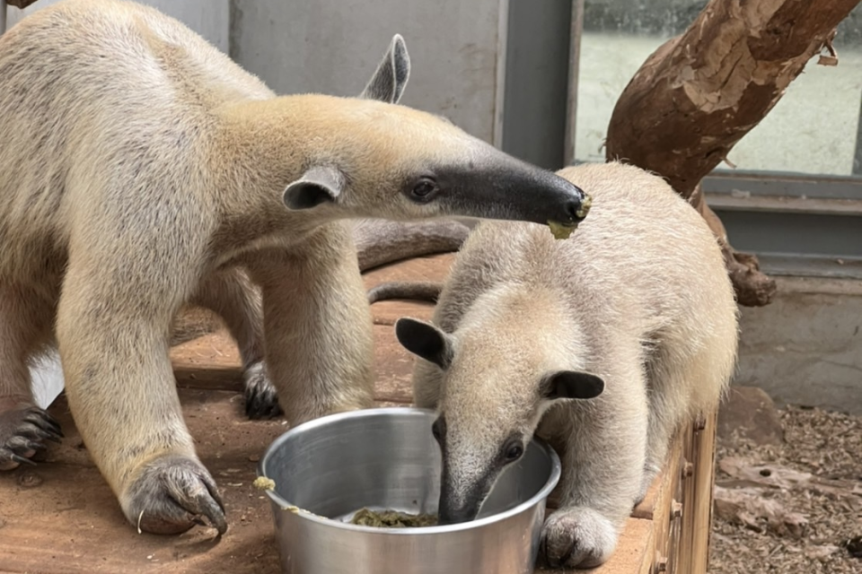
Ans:
[[[0,470],[11,470],[63,436],[35,404],[29,361],[50,338],[54,305],[23,285],[0,283]]]

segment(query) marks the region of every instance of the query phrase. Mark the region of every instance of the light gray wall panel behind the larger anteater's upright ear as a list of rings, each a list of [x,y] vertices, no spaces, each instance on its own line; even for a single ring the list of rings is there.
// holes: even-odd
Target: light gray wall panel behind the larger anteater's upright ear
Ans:
[[[499,137],[497,75],[506,1],[233,0],[231,56],[278,93],[362,90],[393,34],[412,62],[402,103]]]

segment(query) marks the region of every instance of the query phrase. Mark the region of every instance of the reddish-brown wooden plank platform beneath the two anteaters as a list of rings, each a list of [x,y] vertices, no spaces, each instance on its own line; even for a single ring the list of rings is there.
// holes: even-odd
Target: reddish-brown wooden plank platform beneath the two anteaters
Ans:
[[[418,258],[366,274],[366,283],[370,286],[393,278],[439,279],[450,263],[449,256]],[[393,322],[402,316],[427,318],[430,313],[429,305],[399,301],[374,305],[378,404],[411,401],[412,358],[396,342]],[[34,468],[0,473],[0,572],[277,574],[270,509],[251,482],[259,456],[286,431],[286,422],[250,422],[245,418],[239,361],[233,341],[224,332],[174,348],[172,360],[198,454],[224,497],[227,534],[217,539],[214,529],[203,527],[180,536],[138,534],[122,516],[107,483],[92,464],[60,396],[50,411],[66,432],[63,443],[51,444]],[[703,489],[685,483],[688,479],[682,472],[683,455],[699,453],[702,460],[691,467],[692,478],[699,473],[699,483],[711,484],[712,451],[699,445],[704,440],[709,447],[708,431],[688,432],[676,442],[664,477],[632,513],[611,561],[586,571],[704,571],[692,565],[690,551],[697,546],[696,540],[706,540],[708,535],[709,500],[706,506],[698,500]],[[692,459],[690,454],[686,456]],[[684,520],[673,517],[674,498],[686,506],[691,500],[692,508],[699,503],[699,515],[687,513]],[[703,531],[704,509],[707,534]],[[684,548],[679,544],[681,536],[687,540]]]

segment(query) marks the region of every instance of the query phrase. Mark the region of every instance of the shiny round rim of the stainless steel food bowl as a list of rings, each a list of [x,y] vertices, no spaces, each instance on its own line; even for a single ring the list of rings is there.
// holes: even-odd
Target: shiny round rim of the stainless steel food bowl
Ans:
[[[268,446],[266,451],[264,451],[263,457],[260,458],[260,462],[258,463],[258,476],[269,478],[263,470],[266,466],[269,456],[281,445],[281,443],[286,442],[287,440],[293,438],[297,434],[302,433],[303,431],[309,431],[317,427],[325,426],[330,422],[336,420],[359,419],[363,417],[379,416],[385,413],[420,416],[426,415],[428,413],[434,413],[434,411],[431,409],[421,409],[418,407],[408,406],[375,407],[369,409],[361,409],[357,411],[348,411],[345,413],[329,414],[326,416],[321,416],[317,419],[313,419],[312,421],[303,422],[303,424],[300,424],[286,431]],[[283,499],[275,491],[267,490],[265,492],[269,497],[269,500],[275,502],[281,509],[285,511],[289,511],[289,509],[291,508],[299,509],[300,512],[296,513],[297,517],[301,517],[305,520],[311,520],[312,522],[317,522],[322,525],[331,526],[333,528],[394,536],[449,534],[461,530],[480,528],[482,526],[506,520],[506,518],[508,517],[514,517],[528,509],[532,509],[532,507],[534,507],[541,500],[548,498],[550,492],[553,491],[554,488],[557,486],[557,483],[559,483],[559,477],[562,472],[562,467],[559,462],[559,456],[557,455],[557,452],[553,448],[550,448],[550,445],[544,440],[538,437],[533,437],[532,442],[534,442],[537,447],[541,448],[542,451],[550,459],[550,476],[548,477],[548,480],[545,485],[541,488],[541,491],[536,492],[532,497],[530,497],[530,499],[524,500],[521,504],[518,504],[517,506],[508,509],[505,512],[499,512],[489,517],[479,518],[478,520],[471,520],[470,522],[462,522],[459,524],[445,526],[418,526],[415,528],[378,528],[375,526],[359,526],[347,522],[341,522],[339,520],[334,520],[332,518],[318,516],[316,514],[313,514],[311,511],[304,510],[300,507],[297,507],[292,502]]]

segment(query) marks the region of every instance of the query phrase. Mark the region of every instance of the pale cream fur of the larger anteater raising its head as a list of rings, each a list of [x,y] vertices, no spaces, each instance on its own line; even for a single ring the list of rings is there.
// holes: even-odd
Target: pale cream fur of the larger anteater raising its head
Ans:
[[[174,387],[177,311],[224,317],[246,378],[265,378],[265,358],[292,423],[369,406],[372,322],[346,218],[499,214],[405,187],[428,165],[514,161],[392,105],[406,78],[374,83],[383,101],[276,97],[180,22],[119,0],[33,13],[0,37],[0,78],[0,454],[18,448],[16,465],[38,446],[21,432],[52,432],[26,365],[57,344],[90,455],[152,532],[226,528]],[[315,170],[338,195],[288,209]],[[542,182],[549,210],[571,209],[570,184]]]

